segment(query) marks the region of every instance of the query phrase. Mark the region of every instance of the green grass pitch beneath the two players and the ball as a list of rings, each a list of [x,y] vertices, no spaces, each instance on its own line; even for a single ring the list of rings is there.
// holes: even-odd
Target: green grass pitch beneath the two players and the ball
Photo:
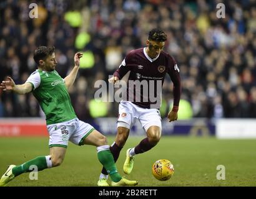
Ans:
[[[129,137],[117,160],[120,174],[139,180],[139,186],[256,186],[256,140],[218,140],[215,137],[162,137],[154,149],[135,157],[134,170],[124,175],[126,149],[143,137]],[[114,137],[108,137],[112,144]],[[22,164],[39,155],[48,155],[47,137],[0,138],[0,175],[9,164]],[[155,160],[169,159],[175,173],[170,180],[156,180],[151,167]],[[217,165],[225,166],[225,180],[217,180]],[[96,147],[75,146],[69,142],[60,167],[45,169],[38,180],[29,173],[15,178],[7,186],[97,186],[101,172]]]

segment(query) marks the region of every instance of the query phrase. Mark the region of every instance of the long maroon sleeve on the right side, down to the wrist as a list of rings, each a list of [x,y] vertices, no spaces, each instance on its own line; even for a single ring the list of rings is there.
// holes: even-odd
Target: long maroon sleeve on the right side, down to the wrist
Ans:
[[[180,70],[175,59],[169,56],[168,72],[170,80],[174,83],[174,106],[179,106],[181,84],[180,84]]]

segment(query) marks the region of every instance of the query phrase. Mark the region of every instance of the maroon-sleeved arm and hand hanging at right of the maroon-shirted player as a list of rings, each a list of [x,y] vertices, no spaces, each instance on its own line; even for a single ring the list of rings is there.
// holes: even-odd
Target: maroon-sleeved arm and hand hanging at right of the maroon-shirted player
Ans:
[[[170,79],[174,84],[173,93],[174,93],[174,106],[172,110],[169,111],[167,118],[169,122],[175,121],[178,119],[179,103],[180,103],[180,93],[181,93],[181,84],[180,84],[180,73],[177,63],[174,61],[174,65],[170,67],[169,70]]]

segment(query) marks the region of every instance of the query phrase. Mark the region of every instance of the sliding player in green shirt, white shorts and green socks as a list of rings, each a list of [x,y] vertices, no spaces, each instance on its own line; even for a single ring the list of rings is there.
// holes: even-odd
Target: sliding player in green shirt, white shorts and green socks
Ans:
[[[16,85],[10,77],[1,83],[0,88],[4,91],[14,91],[19,95],[33,93],[46,114],[50,152],[49,155],[38,156],[21,165],[9,165],[1,177],[0,187],[5,186],[18,175],[31,172],[29,169],[31,165],[36,166],[38,171],[61,165],[68,141],[79,146],[88,144],[97,147],[97,157],[111,176],[112,186],[137,185],[137,181],[122,178],[117,172],[106,137],[90,124],[77,119],[74,112],[68,89],[76,80],[82,53],[74,55],[74,68],[63,79],[55,70],[57,61],[54,50],[54,47],[45,46],[35,50],[34,60],[38,69],[29,76],[26,83]]]

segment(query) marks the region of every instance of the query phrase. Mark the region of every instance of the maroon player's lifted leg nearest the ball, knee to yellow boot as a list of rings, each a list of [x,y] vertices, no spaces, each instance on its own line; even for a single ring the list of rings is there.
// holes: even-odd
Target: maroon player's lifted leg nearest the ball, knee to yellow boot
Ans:
[[[126,160],[124,161],[123,170],[125,174],[130,174],[134,168],[134,155],[142,154],[147,150],[152,149],[157,142],[160,140],[160,127],[150,126],[147,129],[147,137],[142,139],[140,143],[134,148],[127,149],[126,151]]]

